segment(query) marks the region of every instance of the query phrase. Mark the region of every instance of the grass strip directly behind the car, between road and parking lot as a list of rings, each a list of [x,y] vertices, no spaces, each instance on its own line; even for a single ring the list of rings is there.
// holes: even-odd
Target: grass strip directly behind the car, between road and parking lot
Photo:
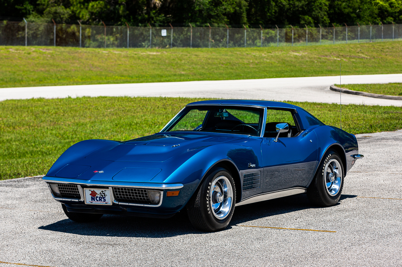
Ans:
[[[0,179],[45,174],[72,144],[154,134],[187,103],[202,99],[79,97],[0,102]],[[339,105],[289,102],[339,127]],[[342,128],[353,134],[402,128],[401,107],[344,105]]]

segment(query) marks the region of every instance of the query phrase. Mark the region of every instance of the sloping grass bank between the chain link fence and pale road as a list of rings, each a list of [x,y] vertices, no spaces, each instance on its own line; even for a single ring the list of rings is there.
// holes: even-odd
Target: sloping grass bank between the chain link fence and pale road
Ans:
[[[217,49],[0,47],[0,87],[402,73],[402,42]]]

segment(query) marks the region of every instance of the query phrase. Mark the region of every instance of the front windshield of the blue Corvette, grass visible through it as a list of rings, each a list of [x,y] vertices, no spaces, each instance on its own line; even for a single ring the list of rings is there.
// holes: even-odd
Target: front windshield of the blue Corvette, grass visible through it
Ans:
[[[264,109],[201,105],[185,107],[162,131],[204,131],[260,136]]]

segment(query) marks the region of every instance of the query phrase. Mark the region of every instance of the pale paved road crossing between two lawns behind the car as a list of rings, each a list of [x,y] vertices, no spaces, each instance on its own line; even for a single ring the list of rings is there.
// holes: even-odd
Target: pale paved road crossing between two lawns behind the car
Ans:
[[[345,75],[342,83],[402,83],[402,74]],[[339,103],[339,93],[329,86],[339,83],[339,76],[248,79],[227,81],[188,81],[170,83],[128,83],[106,85],[66,85],[0,88],[0,101],[32,97],[77,96],[166,96],[211,97],[223,99],[266,99]],[[395,105],[401,100],[359,95],[342,95],[344,104]]]

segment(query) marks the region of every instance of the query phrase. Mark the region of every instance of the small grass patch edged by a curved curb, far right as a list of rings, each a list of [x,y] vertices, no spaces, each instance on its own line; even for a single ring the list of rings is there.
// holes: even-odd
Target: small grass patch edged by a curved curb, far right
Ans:
[[[402,83],[345,84],[342,88],[380,95],[402,95]]]

